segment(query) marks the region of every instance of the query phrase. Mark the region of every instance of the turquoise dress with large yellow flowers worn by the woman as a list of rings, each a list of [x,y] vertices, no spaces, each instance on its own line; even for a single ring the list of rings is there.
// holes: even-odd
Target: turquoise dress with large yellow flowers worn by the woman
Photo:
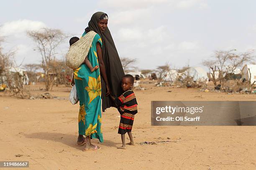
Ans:
[[[82,36],[85,34],[86,32]],[[87,55],[92,67],[99,65],[96,49],[97,42],[100,42],[102,46],[102,40],[98,34],[95,35]],[[100,142],[103,142],[100,68],[91,72],[85,64],[82,64],[79,68],[74,69],[74,81],[80,105],[78,115],[79,134],[97,138]]]

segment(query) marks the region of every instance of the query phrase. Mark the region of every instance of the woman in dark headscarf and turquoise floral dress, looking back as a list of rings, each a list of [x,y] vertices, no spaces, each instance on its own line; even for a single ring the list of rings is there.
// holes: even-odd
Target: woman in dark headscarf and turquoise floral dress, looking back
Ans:
[[[86,65],[82,64],[74,70],[74,81],[80,105],[77,145],[85,144],[84,150],[100,149],[91,144],[92,138],[103,142],[100,106],[102,104],[103,112],[106,108],[115,107],[115,103],[109,95],[110,93],[113,96],[121,94],[120,82],[124,76],[123,67],[107,25],[108,15],[97,12],[92,15],[88,27],[82,35],[84,36],[90,31],[97,33],[87,57],[92,67],[99,65],[100,68],[91,72]]]

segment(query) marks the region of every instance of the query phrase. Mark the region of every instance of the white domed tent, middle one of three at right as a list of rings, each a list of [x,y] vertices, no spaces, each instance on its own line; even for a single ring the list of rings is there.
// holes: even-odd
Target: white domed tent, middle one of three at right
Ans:
[[[183,74],[183,78],[193,77],[193,81],[208,81],[207,72],[202,67],[189,67]]]

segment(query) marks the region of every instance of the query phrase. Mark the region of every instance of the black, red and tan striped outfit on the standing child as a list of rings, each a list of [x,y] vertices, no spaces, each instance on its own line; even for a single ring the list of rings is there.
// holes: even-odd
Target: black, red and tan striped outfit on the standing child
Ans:
[[[137,100],[132,90],[124,92],[122,95],[115,99],[115,104],[119,106],[120,124],[118,128],[119,134],[131,132],[133,128],[134,115],[137,111]]]

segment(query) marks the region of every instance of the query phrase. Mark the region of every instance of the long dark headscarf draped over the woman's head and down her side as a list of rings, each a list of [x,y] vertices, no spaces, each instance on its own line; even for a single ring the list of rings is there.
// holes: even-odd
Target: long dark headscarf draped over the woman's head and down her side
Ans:
[[[88,23],[88,27],[85,28],[85,32],[90,32],[93,30],[97,34],[100,35],[102,40],[102,55],[103,61],[106,68],[106,74],[108,77],[108,83],[111,90],[111,95],[119,96],[122,93],[121,89],[121,80],[122,77],[125,75],[123,71],[123,67],[118,55],[118,52],[115,48],[115,43],[111,36],[111,33],[108,29],[104,32],[100,31],[98,26],[98,22],[100,18],[108,18],[108,15],[102,12],[97,12],[92,15],[91,20]],[[102,98],[102,111],[104,112],[105,109],[109,107],[116,107],[115,103],[111,100],[110,96],[106,96],[106,85],[105,81],[101,77],[101,98]]]

